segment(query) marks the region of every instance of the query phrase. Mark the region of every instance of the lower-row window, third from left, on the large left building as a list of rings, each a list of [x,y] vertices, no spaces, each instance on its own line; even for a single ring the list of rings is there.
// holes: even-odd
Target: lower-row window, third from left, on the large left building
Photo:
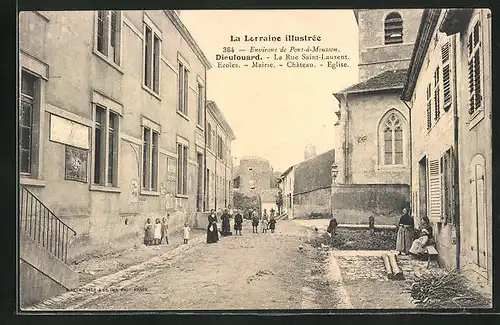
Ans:
[[[159,136],[158,132],[143,127],[142,188],[146,191],[158,190]]]

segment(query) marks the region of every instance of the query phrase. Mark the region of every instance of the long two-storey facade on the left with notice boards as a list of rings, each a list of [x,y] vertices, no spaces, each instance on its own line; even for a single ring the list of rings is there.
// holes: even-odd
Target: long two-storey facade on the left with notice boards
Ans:
[[[20,182],[77,232],[71,257],[142,237],[146,218],[193,223],[210,63],[177,14],[19,19]]]

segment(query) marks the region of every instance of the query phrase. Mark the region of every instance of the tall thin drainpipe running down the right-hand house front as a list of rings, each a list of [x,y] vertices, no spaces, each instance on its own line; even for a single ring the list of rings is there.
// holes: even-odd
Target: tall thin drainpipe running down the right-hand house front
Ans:
[[[460,272],[460,189],[458,188],[459,186],[459,161],[458,161],[458,104],[457,104],[457,53],[456,53],[456,44],[457,44],[457,35],[453,35],[451,38],[451,45],[452,45],[452,56],[453,56],[453,90],[455,93],[455,100],[453,100],[453,131],[454,131],[454,147],[455,150],[453,150],[453,161],[455,168],[453,170],[453,180],[454,180],[454,188],[453,188],[453,195],[455,196],[455,207],[454,207],[454,212],[455,212],[455,249],[456,249],[456,265],[457,265],[457,271]]]

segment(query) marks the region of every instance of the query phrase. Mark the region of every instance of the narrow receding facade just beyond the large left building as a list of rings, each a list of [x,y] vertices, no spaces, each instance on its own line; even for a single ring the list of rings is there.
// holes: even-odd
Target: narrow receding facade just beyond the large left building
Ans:
[[[206,211],[221,211],[232,205],[234,133],[214,101],[207,102]]]

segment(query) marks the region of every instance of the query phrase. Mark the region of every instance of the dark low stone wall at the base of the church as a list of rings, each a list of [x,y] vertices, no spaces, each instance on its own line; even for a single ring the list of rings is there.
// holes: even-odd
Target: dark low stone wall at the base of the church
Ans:
[[[332,187],[333,215],[339,223],[395,224],[410,200],[410,187],[404,184],[337,184]]]

